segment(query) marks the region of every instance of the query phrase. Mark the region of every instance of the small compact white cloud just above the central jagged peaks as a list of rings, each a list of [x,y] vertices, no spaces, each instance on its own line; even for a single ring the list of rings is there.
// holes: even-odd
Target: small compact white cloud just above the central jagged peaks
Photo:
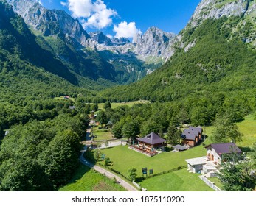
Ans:
[[[116,32],[115,38],[134,38],[134,35],[137,33],[142,33],[139,29],[136,28],[135,22],[130,22],[129,24],[126,21],[121,22],[120,24],[114,25],[114,32]]]

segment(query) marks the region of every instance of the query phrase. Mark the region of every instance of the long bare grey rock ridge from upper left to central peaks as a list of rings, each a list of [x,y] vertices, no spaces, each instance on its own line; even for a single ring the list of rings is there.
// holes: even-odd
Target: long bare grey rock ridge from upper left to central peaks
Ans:
[[[58,35],[72,38],[76,45],[97,49],[109,50],[116,54],[134,52],[139,59],[159,57],[165,62],[173,55],[172,44],[176,35],[163,32],[152,27],[144,35],[138,34],[131,43],[128,38],[108,38],[103,32],[88,34],[78,20],[73,19],[63,10],[47,10],[35,0],[7,0],[13,10],[24,18],[24,21],[44,36]]]

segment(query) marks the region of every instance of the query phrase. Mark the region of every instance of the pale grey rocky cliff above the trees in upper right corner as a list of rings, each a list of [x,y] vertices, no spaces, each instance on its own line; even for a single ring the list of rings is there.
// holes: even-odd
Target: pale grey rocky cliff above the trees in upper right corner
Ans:
[[[256,0],[202,0],[189,23],[178,36],[180,47],[189,51],[196,45],[198,39],[187,41],[186,32],[193,32],[207,19],[226,18],[222,29],[231,29],[232,38],[239,38],[256,48]],[[235,20],[234,20],[235,19]]]

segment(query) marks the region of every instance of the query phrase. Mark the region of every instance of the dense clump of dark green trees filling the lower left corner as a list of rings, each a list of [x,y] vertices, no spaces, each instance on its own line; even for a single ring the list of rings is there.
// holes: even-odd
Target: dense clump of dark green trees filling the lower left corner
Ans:
[[[85,119],[63,114],[12,127],[1,143],[0,191],[54,191],[78,166]]]

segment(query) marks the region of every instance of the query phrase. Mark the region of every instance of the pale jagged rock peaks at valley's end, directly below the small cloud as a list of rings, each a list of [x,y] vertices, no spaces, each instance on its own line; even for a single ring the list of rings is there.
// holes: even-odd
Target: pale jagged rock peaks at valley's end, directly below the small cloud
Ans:
[[[102,32],[90,33],[90,35],[92,42],[99,51],[108,50],[116,54],[132,52],[140,60],[158,57],[163,63],[173,55],[173,44],[176,42],[175,34],[164,32],[156,27],[149,28],[144,35],[135,35],[133,43],[130,43],[127,38],[110,39]]]

